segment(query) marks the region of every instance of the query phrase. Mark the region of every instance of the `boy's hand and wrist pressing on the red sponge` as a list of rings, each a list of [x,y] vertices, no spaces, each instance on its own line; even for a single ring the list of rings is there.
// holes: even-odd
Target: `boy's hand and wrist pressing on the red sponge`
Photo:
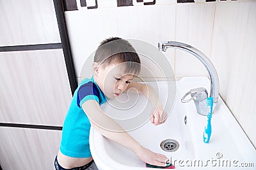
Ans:
[[[154,166],[166,166],[166,160],[168,160],[165,155],[162,155],[160,153],[154,153],[147,148],[144,148],[143,146],[141,146],[140,151],[138,151],[136,155],[143,162]]]

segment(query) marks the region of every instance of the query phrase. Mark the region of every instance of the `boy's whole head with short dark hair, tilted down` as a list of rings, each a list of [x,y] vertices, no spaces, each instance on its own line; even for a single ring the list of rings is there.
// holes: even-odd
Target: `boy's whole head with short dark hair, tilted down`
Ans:
[[[140,58],[127,40],[108,38],[95,52],[93,72],[95,82],[106,97],[115,98],[140,72]]]

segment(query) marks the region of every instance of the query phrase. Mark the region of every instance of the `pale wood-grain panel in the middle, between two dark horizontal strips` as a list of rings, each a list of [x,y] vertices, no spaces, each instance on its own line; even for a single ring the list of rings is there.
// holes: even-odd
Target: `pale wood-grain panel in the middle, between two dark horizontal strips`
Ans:
[[[0,122],[62,126],[72,99],[62,49],[0,52]]]

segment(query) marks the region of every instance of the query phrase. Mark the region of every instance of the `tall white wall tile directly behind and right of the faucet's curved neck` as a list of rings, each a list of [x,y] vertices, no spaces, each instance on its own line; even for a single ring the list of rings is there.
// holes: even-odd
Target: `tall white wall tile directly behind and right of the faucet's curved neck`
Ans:
[[[232,109],[239,66],[243,56],[244,36],[251,3],[216,3],[212,62],[220,78],[220,94]]]

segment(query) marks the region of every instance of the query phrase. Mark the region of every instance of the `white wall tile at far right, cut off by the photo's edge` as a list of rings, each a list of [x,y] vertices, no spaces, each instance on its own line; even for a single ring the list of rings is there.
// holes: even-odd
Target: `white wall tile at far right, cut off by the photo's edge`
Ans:
[[[256,101],[256,1],[252,2],[248,15],[248,24],[239,65],[237,77],[236,94],[234,96],[234,107],[232,112],[237,120],[256,145],[255,133],[255,101]]]

